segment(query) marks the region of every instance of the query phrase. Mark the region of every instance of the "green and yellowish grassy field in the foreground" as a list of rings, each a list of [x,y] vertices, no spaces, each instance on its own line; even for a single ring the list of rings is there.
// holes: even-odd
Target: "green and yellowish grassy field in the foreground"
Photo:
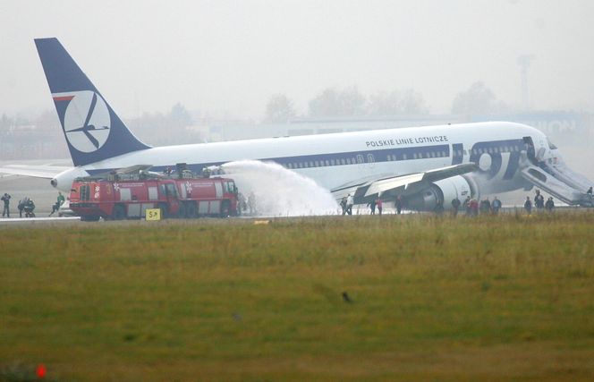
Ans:
[[[0,376],[594,380],[592,213],[251,223],[0,228]]]

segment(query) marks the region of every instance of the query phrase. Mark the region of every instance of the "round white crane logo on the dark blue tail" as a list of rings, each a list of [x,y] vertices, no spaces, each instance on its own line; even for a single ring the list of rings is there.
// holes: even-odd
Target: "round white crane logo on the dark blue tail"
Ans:
[[[101,149],[111,131],[106,101],[90,90],[76,91],[67,97],[54,99],[70,101],[64,114],[64,133],[72,147],[85,153]]]

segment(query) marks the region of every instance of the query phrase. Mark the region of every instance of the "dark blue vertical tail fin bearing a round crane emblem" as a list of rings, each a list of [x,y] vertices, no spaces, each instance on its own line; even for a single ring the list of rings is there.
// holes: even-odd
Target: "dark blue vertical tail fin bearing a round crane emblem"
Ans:
[[[148,149],[123,124],[57,38],[36,38],[74,166]]]

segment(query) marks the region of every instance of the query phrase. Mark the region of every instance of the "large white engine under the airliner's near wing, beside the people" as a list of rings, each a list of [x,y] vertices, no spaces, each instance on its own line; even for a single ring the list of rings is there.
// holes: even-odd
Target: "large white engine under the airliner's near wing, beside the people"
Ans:
[[[470,177],[456,175],[436,183],[431,183],[428,188],[415,192],[412,195],[404,196],[405,207],[417,211],[433,211],[437,203],[442,202],[444,208],[452,208],[452,200],[460,199],[461,202],[467,196],[479,198],[477,184]]]

